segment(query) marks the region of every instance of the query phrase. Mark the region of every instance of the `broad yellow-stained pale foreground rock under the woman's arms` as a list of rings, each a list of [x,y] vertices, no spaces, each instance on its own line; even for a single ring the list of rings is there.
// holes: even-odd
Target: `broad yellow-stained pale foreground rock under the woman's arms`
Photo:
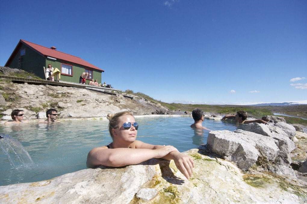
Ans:
[[[243,174],[235,164],[204,156],[199,151],[185,152],[194,158],[195,163],[189,180],[173,161],[151,159],[123,168],[84,169],[50,180],[2,186],[0,203],[307,202],[307,184],[303,181],[272,173]],[[138,195],[144,188],[158,193],[150,200],[140,199]]]

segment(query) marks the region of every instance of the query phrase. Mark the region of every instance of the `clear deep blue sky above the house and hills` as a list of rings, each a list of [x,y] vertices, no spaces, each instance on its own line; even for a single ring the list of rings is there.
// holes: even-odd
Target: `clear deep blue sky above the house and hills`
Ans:
[[[115,88],[165,102],[307,100],[307,1],[6,0],[0,6],[1,66],[25,39],[104,69],[103,81]]]

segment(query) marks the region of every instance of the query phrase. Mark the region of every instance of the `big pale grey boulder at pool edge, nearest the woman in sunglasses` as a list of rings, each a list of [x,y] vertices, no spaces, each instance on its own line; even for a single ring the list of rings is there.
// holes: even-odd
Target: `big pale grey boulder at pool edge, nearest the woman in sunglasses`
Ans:
[[[272,161],[279,152],[275,139],[243,130],[211,131],[207,145],[210,151],[236,162],[243,170],[255,164],[260,154]]]

